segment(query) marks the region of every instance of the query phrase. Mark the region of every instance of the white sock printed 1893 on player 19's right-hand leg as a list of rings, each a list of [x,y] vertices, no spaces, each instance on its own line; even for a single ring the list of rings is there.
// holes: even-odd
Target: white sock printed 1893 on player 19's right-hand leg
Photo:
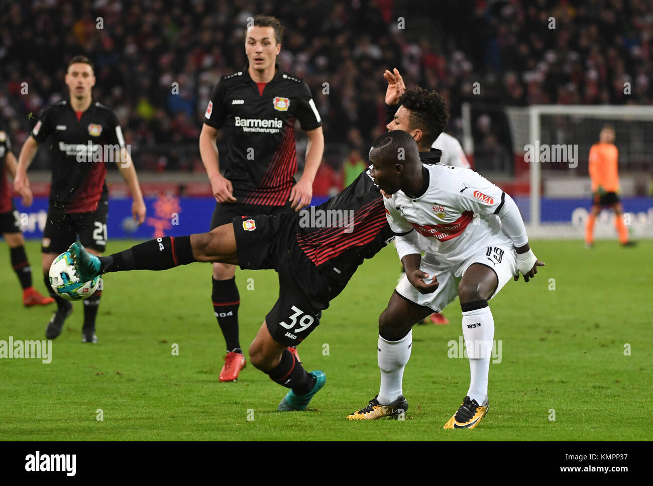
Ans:
[[[483,405],[488,395],[488,374],[494,340],[494,318],[490,307],[462,313],[462,335],[470,359],[470,389],[467,395]]]

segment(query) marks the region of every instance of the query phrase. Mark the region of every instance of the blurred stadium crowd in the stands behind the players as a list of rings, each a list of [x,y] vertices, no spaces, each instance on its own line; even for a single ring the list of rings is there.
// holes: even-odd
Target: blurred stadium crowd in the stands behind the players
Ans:
[[[144,169],[203,170],[202,115],[220,76],[245,65],[243,34],[255,14],[285,25],[279,61],[311,87],[332,168],[358,162],[385,130],[389,67],[447,99],[454,136],[465,101],[653,103],[647,0],[27,0],[0,8],[0,114],[14,146],[30,114],[61,97],[68,59],[84,54],[95,63],[95,98],[118,112]],[[501,138],[491,122],[475,120],[477,147]]]

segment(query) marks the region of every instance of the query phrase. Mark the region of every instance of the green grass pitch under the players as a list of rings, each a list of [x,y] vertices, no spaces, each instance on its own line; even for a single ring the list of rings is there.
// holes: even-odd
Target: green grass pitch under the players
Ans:
[[[133,244],[112,241],[108,251]],[[633,249],[616,241],[598,241],[591,251],[581,241],[532,247],[547,266],[528,284],[509,282],[490,302],[502,359],[490,366],[488,415],[472,431],[442,429],[469,384],[467,359],[449,357],[447,344],[462,336],[457,301],[445,311],[449,326],[413,328],[406,420],[345,419],[378,391],[377,318],[399,268],[390,246],[365,262],[299,346],[306,369],[327,374],[306,412],[277,412],[285,388],[249,364],[238,382],[218,382],[225,350],[210,304],[210,266],[192,264],[106,275],[98,344],[82,344],[82,303],[74,303],[52,342],[52,363],[0,359],[0,438],[650,440],[653,241]],[[27,253],[43,292],[38,242]],[[0,339],[44,339],[53,308],[22,307],[4,242],[0,270]],[[236,279],[247,350],[278,283],[274,271],[238,271]]]

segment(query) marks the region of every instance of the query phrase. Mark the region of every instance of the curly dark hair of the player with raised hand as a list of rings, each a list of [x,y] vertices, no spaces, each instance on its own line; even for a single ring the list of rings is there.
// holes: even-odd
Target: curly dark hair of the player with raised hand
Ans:
[[[410,129],[422,130],[424,142],[429,146],[433,145],[436,138],[444,131],[449,119],[449,108],[445,99],[437,91],[429,91],[418,86],[406,89],[399,102],[411,112]]]

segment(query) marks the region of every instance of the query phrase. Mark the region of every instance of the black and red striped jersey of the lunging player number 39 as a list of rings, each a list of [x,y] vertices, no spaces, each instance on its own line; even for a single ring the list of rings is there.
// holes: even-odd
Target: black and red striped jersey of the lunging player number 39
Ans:
[[[297,244],[321,271],[349,280],[365,258],[372,258],[394,238],[385,205],[370,168],[337,196],[302,209]]]

